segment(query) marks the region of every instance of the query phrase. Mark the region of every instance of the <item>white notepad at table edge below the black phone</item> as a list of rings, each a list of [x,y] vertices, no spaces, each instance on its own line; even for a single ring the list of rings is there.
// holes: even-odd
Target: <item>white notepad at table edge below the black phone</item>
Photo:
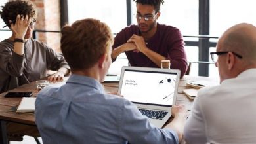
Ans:
[[[34,112],[35,111],[35,97],[24,97],[20,101],[18,108],[16,110],[17,113],[24,112]]]

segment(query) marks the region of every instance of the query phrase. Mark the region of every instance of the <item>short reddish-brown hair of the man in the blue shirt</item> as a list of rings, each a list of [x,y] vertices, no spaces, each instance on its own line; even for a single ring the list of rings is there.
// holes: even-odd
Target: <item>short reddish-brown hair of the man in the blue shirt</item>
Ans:
[[[72,70],[93,67],[114,43],[110,27],[93,18],[64,26],[61,33],[60,48]]]

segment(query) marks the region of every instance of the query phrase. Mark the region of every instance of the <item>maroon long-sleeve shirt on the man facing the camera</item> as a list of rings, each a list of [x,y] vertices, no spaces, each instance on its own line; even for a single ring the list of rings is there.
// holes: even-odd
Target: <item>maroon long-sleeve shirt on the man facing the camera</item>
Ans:
[[[131,25],[122,29],[115,37],[113,48],[126,43],[133,34],[141,35],[137,25]],[[165,56],[167,60],[171,60],[171,69],[181,70],[181,77],[183,77],[188,64],[184,50],[184,41],[179,29],[164,24],[157,24],[156,34],[146,41],[146,46],[154,52]],[[125,54],[131,66],[158,67],[142,52],[137,53],[131,50],[125,52]]]

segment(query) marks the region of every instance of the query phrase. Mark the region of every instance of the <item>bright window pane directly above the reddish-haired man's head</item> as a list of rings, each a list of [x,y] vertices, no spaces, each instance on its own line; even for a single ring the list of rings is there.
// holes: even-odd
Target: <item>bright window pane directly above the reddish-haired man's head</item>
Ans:
[[[70,24],[83,18],[96,18],[110,26],[117,33],[127,26],[126,1],[68,1],[68,20]]]

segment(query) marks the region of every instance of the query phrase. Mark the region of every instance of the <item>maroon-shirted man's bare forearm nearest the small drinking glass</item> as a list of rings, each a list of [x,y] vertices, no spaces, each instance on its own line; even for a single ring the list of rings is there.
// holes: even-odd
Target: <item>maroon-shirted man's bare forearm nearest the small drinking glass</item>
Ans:
[[[158,65],[158,67],[161,67],[161,60],[166,59],[164,56],[161,56],[160,54],[150,50],[149,48],[146,48],[146,50],[144,50],[144,52],[142,53],[145,54],[150,60],[152,60],[152,62]]]

